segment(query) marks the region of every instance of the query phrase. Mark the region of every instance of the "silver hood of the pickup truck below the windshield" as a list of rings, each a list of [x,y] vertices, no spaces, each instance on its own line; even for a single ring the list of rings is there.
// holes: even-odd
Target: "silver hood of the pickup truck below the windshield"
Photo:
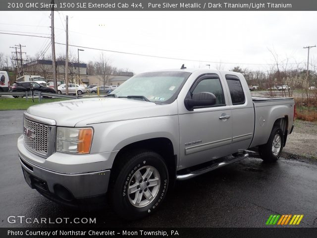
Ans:
[[[27,113],[53,119],[60,126],[85,126],[88,124],[160,117],[177,114],[176,101],[159,105],[127,98],[91,98],[46,103],[29,107]]]

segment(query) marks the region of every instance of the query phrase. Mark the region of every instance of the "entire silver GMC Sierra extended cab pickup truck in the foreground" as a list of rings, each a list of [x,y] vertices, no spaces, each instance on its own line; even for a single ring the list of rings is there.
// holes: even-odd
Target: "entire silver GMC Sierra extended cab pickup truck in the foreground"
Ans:
[[[248,157],[275,162],[292,132],[292,98],[252,98],[243,75],[176,70],[135,75],[107,97],[24,113],[26,182],[70,206],[110,202],[125,219],[156,211],[175,180]]]

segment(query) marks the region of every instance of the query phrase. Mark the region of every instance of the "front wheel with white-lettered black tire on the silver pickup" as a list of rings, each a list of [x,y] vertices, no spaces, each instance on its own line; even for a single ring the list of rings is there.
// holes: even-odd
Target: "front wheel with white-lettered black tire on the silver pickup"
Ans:
[[[146,177],[148,169],[154,171],[149,176],[149,180]],[[110,200],[114,211],[125,220],[140,219],[152,214],[166,196],[169,181],[167,167],[163,158],[153,151],[125,154],[111,173],[113,174],[110,178],[110,184],[112,184]],[[139,177],[140,174],[144,177]],[[137,177],[140,178],[139,181]],[[150,182],[154,183],[150,184]],[[157,184],[154,185],[155,183]],[[128,188],[133,185],[138,185],[135,186],[136,192],[129,194]],[[153,198],[146,197],[146,194],[153,195]],[[141,196],[139,203],[137,196]],[[133,202],[135,202],[134,205]]]

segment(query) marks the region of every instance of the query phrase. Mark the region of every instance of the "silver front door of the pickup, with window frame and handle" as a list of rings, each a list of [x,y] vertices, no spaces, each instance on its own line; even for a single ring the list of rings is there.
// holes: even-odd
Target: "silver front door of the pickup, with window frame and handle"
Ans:
[[[200,92],[214,94],[216,103],[179,115],[181,168],[230,154],[232,113],[224,82],[216,74],[200,76],[187,95]]]

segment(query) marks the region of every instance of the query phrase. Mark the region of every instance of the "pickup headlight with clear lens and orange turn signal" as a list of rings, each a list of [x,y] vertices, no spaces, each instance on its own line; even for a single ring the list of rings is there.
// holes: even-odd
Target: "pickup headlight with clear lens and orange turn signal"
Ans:
[[[93,128],[57,127],[56,151],[88,154],[93,141]]]

